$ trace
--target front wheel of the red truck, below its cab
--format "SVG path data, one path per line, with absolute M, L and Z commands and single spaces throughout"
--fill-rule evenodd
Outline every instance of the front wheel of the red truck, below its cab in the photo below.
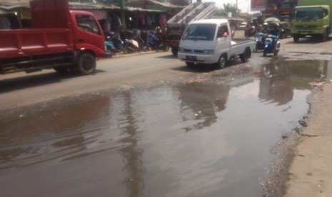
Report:
M 92 74 L 96 70 L 96 58 L 89 53 L 83 53 L 77 61 L 77 71 L 81 75 Z

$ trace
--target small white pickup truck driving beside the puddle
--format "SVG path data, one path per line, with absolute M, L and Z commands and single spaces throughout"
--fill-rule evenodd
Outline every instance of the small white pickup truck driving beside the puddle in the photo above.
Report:
M 193 21 L 181 36 L 178 59 L 186 61 L 187 66 L 216 64 L 221 69 L 230 59 L 248 61 L 251 51 L 256 48 L 256 41 L 232 40 L 230 30 L 226 19 Z

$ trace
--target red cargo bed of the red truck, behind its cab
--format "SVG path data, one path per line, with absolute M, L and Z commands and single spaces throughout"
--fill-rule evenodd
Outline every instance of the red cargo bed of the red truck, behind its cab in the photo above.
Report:
M 0 31 L 0 74 L 69 66 L 73 62 L 69 29 Z

